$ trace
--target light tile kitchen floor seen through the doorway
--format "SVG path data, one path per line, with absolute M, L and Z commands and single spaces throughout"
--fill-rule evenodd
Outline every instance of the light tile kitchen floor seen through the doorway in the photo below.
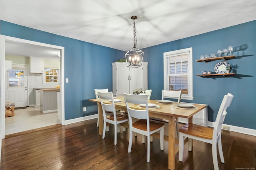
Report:
M 59 124 L 57 112 L 42 113 L 40 107 L 17 109 L 14 116 L 5 117 L 5 135 Z

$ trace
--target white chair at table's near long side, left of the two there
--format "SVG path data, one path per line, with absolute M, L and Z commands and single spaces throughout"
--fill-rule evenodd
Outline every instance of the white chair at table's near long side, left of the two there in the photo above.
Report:
M 117 133 L 118 133 L 118 129 L 120 129 L 119 124 L 128 121 L 128 116 L 123 114 L 123 113 L 119 113 L 118 115 L 116 114 L 116 107 L 115 107 L 115 104 L 114 104 L 114 98 L 113 98 L 113 93 L 112 92 L 105 92 L 105 93 L 98 92 L 98 95 L 99 95 L 99 98 L 100 98 L 100 104 L 102 106 L 103 117 L 104 117 L 103 118 L 104 124 L 103 124 L 102 139 L 105 138 L 106 123 L 110 123 L 110 124 L 114 125 L 114 145 L 116 145 L 116 143 L 117 143 Z M 112 101 L 111 104 L 107 103 L 110 100 Z M 106 115 L 106 111 L 112 112 L 112 114 Z

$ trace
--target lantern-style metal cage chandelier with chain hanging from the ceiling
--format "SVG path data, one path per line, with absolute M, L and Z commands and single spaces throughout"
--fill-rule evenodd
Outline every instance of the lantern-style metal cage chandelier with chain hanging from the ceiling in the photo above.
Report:
M 131 18 L 133 20 L 133 48 L 126 52 L 125 59 L 128 67 L 140 67 L 142 65 L 144 51 L 137 49 L 136 27 L 134 21 L 137 17 L 132 16 Z

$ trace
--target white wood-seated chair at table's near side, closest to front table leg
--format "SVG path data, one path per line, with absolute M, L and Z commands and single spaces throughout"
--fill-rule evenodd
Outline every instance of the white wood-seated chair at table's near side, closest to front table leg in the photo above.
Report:
M 129 117 L 130 137 L 128 153 L 132 150 L 133 132 L 147 136 L 147 162 L 150 162 L 150 135 L 160 131 L 160 149 L 164 150 L 164 123 L 150 121 L 148 115 L 148 96 L 146 94 L 134 95 L 124 93 L 124 101 Z M 146 107 L 144 110 L 141 110 L 132 108 L 129 104 L 145 104 Z

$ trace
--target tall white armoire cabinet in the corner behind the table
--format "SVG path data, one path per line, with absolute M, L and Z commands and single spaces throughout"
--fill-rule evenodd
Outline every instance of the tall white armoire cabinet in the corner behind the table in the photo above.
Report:
M 127 67 L 126 63 L 112 63 L 113 95 L 133 93 L 134 88 L 148 90 L 148 63 L 138 68 Z

